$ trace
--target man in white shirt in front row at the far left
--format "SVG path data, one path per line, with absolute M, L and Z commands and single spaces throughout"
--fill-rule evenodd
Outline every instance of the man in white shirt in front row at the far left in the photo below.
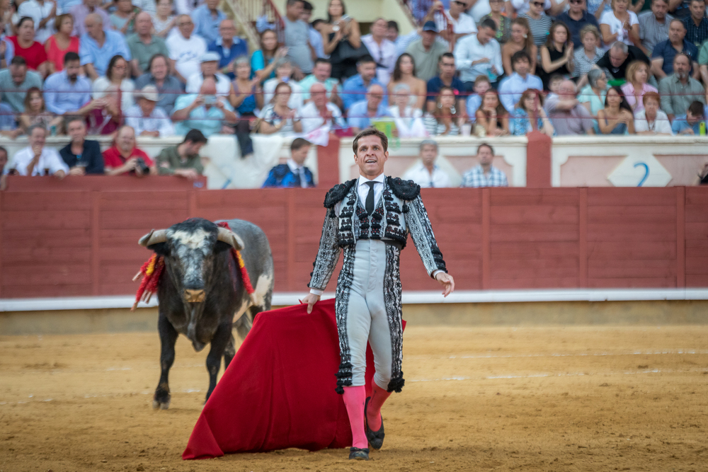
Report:
M 56 149 L 45 148 L 47 130 L 42 125 L 28 129 L 30 145 L 17 151 L 13 168 L 19 175 L 54 175 L 61 180 L 69 173 L 69 166 Z

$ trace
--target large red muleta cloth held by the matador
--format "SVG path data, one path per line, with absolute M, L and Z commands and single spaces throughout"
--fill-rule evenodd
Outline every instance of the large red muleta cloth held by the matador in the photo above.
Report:
M 404 321 L 404 327 L 405 325 Z M 367 347 L 366 388 L 374 375 Z M 297 447 L 350 447 L 336 388 L 339 339 L 334 300 L 264 311 L 204 405 L 182 459 Z

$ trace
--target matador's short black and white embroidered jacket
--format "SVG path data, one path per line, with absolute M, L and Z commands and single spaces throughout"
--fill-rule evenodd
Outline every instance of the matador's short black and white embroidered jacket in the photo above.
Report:
M 369 216 L 359 201 L 356 182 L 353 179 L 335 185 L 324 198 L 327 212 L 308 287 L 324 290 L 341 249 L 354 246 L 359 239 L 380 239 L 404 248 L 411 234 L 428 275 L 432 277 L 436 270 L 447 272 L 421 199 L 420 185 L 387 177 L 381 198 Z

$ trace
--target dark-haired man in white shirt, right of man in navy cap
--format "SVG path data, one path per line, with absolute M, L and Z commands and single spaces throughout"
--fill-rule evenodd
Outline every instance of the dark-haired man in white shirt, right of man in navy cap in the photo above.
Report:
M 501 63 L 501 47 L 494 39 L 496 23 L 486 18 L 479 24 L 476 35 L 465 36 L 455 46 L 455 64 L 459 79 L 467 91 L 472 91 L 474 79 L 481 74 L 489 76 L 491 82 L 504 71 Z

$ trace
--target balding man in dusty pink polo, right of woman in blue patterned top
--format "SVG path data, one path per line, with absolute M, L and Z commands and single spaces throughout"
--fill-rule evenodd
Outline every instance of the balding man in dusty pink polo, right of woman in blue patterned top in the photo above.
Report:
M 556 136 L 569 134 L 595 134 L 593 115 L 576 98 L 573 81 L 562 81 L 557 96 L 549 96 L 545 110 L 556 129 Z

